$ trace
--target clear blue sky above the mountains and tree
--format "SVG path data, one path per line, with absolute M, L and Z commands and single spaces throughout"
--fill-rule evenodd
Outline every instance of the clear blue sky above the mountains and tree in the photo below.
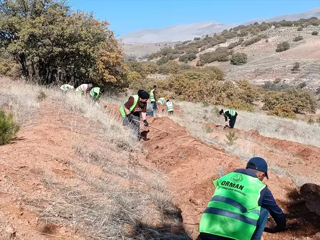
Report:
M 116 35 L 201 21 L 241 23 L 319 7 L 320 0 L 69 0 L 74 10 L 93 11 Z

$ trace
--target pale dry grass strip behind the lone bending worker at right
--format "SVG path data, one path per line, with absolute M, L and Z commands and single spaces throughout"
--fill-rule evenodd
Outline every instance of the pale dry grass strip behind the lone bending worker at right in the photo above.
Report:
M 215 114 L 215 106 L 203 108 L 200 103 L 176 102 L 183 109 L 184 116 L 194 122 L 224 124 L 224 118 Z M 235 127 L 243 130 L 256 130 L 266 137 L 298 142 L 320 147 L 320 126 L 310 125 L 302 120 L 290 120 L 260 113 L 239 113 Z

